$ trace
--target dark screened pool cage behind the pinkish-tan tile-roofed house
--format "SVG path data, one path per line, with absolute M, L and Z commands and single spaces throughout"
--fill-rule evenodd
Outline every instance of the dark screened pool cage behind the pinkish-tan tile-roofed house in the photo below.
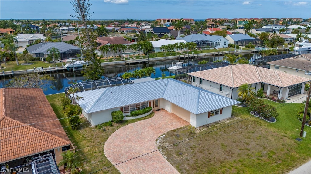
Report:
M 215 63 L 205 63 L 201 65 L 191 65 L 187 67 L 182 67 L 176 70 L 175 79 L 191 84 L 191 76 L 188 76 L 187 73 L 203 71 L 203 70 L 219 68 L 219 67 L 226 67 L 229 65 L 230 63 L 227 63 L 227 62 L 215 62 Z

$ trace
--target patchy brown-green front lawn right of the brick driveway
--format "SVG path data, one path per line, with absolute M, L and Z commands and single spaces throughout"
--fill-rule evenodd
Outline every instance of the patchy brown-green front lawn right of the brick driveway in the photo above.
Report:
M 165 133 L 158 148 L 206 133 L 164 148 L 162 154 L 180 173 L 288 173 L 310 160 L 311 128 L 305 126 L 307 137 L 296 141 L 300 104 L 263 100 L 277 107 L 276 123 L 254 117 L 243 120 L 251 115 L 234 106 L 232 118 L 202 127 L 196 134 L 187 127 Z

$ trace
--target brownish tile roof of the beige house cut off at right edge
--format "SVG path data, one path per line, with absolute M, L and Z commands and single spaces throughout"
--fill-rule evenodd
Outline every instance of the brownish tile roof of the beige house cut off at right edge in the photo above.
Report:
M 267 64 L 311 72 L 311 54 L 303 54 L 292 58 L 267 62 Z

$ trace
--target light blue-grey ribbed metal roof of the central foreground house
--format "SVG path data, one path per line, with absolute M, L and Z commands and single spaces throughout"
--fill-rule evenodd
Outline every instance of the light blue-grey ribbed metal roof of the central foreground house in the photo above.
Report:
M 71 94 L 72 95 L 72 94 Z M 183 83 L 161 79 L 75 93 L 86 113 L 164 98 L 194 114 L 238 104 L 238 101 Z

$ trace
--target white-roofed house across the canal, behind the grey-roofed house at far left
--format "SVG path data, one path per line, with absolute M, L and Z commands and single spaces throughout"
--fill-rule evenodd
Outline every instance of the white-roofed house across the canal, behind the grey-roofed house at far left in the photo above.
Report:
M 41 39 L 42 42 L 46 39 L 43 34 L 18 34 L 14 38 L 17 39 L 17 43 L 15 44 L 21 47 L 33 44 L 38 39 Z

